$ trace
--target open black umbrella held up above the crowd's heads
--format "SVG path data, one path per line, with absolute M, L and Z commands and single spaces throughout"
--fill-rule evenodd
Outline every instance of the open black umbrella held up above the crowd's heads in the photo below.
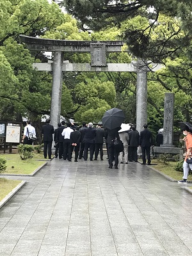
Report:
M 118 108 L 111 108 L 104 113 L 102 116 L 102 126 L 113 130 L 120 127 L 125 120 L 124 112 Z

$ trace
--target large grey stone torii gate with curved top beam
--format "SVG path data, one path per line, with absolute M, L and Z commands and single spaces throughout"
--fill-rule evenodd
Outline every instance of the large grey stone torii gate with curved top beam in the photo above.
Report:
M 106 52 L 122 52 L 123 41 L 75 41 L 52 40 L 20 35 L 28 49 L 53 52 L 54 59 L 48 63 L 33 63 L 40 71 L 52 71 L 51 124 L 54 128 L 60 122 L 63 72 L 136 72 L 136 125 L 140 132 L 147 123 L 147 72 L 162 66 L 148 65 L 142 61 L 132 63 L 106 63 Z M 91 63 L 68 63 L 63 61 L 63 52 L 90 52 Z

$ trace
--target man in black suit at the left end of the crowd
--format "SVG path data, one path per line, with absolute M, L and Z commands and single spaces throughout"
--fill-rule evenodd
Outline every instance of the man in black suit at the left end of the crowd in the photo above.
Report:
M 51 146 L 52 146 L 52 134 L 54 134 L 54 127 L 50 124 L 51 120 L 47 118 L 46 124 L 42 127 L 42 134 L 44 134 L 44 158 L 47 158 L 47 148 L 48 157 L 51 159 Z

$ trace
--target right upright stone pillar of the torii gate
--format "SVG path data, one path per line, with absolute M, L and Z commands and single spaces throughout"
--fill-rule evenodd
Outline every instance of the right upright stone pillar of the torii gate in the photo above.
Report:
M 138 132 L 141 132 L 143 125 L 147 124 L 147 65 L 142 60 L 138 60 L 136 64 L 136 125 Z

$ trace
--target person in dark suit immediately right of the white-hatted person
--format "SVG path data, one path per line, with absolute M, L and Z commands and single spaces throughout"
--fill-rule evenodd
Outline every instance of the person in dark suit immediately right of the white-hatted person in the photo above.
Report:
M 138 147 L 140 143 L 140 133 L 136 131 L 136 127 L 132 125 L 132 131 L 129 132 L 129 154 L 130 162 L 138 161 Z

